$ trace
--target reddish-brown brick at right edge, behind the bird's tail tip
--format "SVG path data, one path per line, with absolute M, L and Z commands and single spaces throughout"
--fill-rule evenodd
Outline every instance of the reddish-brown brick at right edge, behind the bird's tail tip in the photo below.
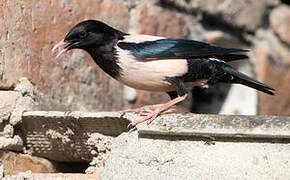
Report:
M 261 115 L 290 115 L 290 63 L 280 63 L 271 59 L 263 47 L 256 48 L 257 61 L 255 71 L 257 79 L 272 86 L 275 96 L 259 92 L 258 111 Z M 283 59 L 283 57 L 280 57 Z

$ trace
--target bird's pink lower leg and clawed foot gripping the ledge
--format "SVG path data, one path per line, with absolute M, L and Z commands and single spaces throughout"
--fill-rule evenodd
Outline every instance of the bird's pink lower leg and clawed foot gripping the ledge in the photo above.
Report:
M 173 111 L 172 108 L 177 103 L 183 101 L 187 97 L 187 94 L 184 96 L 177 97 L 175 99 L 172 99 L 171 101 L 165 103 L 165 104 L 155 104 L 155 105 L 149 105 L 149 106 L 143 106 L 141 108 L 136 109 L 127 109 L 124 111 L 121 111 L 120 113 L 124 114 L 126 112 L 135 112 L 140 115 L 145 115 L 143 119 L 136 120 L 129 124 L 129 126 L 135 126 L 139 123 L 142 123 L 144 121 L 147 121 L 147 124 L 150 124 L 156 117 L 160 114 L 170 113 Z

